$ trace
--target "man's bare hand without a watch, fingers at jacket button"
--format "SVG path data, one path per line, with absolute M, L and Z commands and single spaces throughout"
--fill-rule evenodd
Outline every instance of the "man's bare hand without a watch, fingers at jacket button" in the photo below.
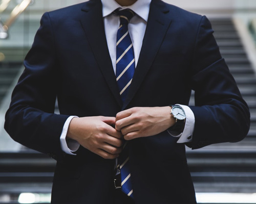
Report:
M 73 118 L 67 138 L 104 159 L 115 159 L 123 145 L 121 132 L 115 130 L 115 120 L 115 117 L 104 116 Z

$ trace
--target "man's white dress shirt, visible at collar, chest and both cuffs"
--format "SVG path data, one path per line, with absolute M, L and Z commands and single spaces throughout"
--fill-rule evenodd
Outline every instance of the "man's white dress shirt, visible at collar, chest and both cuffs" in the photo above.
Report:
M 109 53 L 113 64 L 114 72 L 116 73 L 116 38 L 117 30 L 120 24 L 119 16 L 115 15 L 113 11 L 121 6 L 117 4 L 115 0 L 101 0 L 102 2 L 102 16 L 104 20 L 104 29 L 106 35 L 106 41 L 108 43 Z M 140 50 L 142 46 L 143 37 L 146 30 L 146 24 L 148 19 L 148 13 L 150 12 L 151 0 L 138 0 L 132 6 L 121 7 L 130 8 L 135 12 L 135 16 L 130 20 L 128 24 L 128 30 L 133 42 L 134 55 L 135 55 L 135 66 L 137 65 Z M 195 116 L 188 106 L 180 105 L 186 114 L 186 123 L 183 133 L 178 136 L 178 143 L 190 142 L 195 126 Z M 70 121 L 76 116 L 70 116 L 63 126 L 63 130 L 60 136 L 60 144 L 63 151 L 67 154 L 75 155 L 73 152 L 79 148 L 78 142 L 74 140 L 66 140 L 68 127 Z

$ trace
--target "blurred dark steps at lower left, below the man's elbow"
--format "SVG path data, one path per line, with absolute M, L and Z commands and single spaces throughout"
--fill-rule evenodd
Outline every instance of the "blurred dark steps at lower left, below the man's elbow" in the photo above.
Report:
M 37 202 L 29 203 L 49 203 L 44 200 L 49 200 L 55 163 L 48 156 L 31 150 L 1 153 L 0 203 L 24 203 L 18 202 L 21 193 L 37 195 Z

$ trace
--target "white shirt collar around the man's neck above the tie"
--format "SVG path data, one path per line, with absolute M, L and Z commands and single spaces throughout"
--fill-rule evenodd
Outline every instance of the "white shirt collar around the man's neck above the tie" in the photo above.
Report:
M 101 0 L 101 2 L 103 17 L 110 15 L 117 8 L 121 7 L 115 0 Z M 151 0 L 137 0 L 133 5 L 121 8 L 132 9 L 137 15 L 147 22 L 148 13 L 150 13 L 150 3 Z

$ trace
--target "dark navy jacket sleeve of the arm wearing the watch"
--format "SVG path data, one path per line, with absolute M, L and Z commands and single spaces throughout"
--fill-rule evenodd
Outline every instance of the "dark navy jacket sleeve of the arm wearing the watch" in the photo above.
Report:
M 220 142 L 237 142 L 249 131 L 250 113 L 225 60 L 211 24 L 203 16 L 195 42 L 191 86 L 195 90 L 193 149 Z

